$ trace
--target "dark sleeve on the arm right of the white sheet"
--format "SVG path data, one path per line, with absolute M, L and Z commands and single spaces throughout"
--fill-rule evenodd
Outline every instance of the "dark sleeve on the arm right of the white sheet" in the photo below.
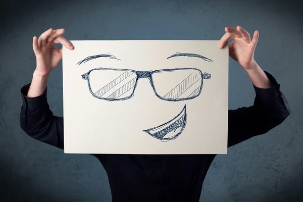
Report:
M 267 133 L 290 114 L 280 84 L 268 72 L 265 73 L 273 86 L 263 89 L 253 85 L 256 91 L 254 105 L 228 111 L 228 147 Z

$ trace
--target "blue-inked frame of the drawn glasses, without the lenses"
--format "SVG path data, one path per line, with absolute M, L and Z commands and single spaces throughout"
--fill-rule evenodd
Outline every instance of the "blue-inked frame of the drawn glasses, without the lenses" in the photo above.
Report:
M 95 70 L 114 70 L 114 71 L 132 71 L 136 74 L 136 81 L 135 81 L 135 85 L 134 85 L 134 89 L 132 90 L 132 93 L 128 96 L 128 97 L 123 97 L 123 98 L 107 98 L 107 97 L 98 97 L 96 96 L 92 90 L 91 90 L 91 87 L 90 87 L 90 83 L 89 83 L 89 74 L 92 72 L 92 71 L 95 71 Z M 155 85 L 154 85 L 154 81 L 153 81 L 153 77 L 152 75 L 154 73 L 159 73 L 159 72 L 170 72 L 170 71 L 176 71 L 176 70 L 197 70 L 199 73 L 200 73 L 200 76 L 201 76 L 201 84 L 200 84 L 200 89 L 199 89 L 199 92 L 192 96 L 192 97 L 186 97 L 186 98 L 180 98 L 180 99 L 166 99 L 166 98 L 163 98 L 161 97 L 158 93 L 157 93 L 157 90 L 155 88 Z M 87 80 L 87 85 L 88 85 L 88 89 L 89 89 L 89 92 L 92 94 L 92 96 L 94 96 L 95 98 L 98 98 L 98 99 L 103 99 L 103 100 L 107 100 L 107 101 L 121 101 L 121 100 L 126 100 L 126 99 L 130 99 L 131 97 L 133 97 L 134 95 L 134 92 L 135 92 L 135 89 L 137 87 L 137 83 L 138 83 L 138 80 L 141 79 L 141 78 L 148 78 L 149 79 L 149 83 L 151 85 L 151 87 L 153 87 L 153 90 L 154 90 L 154 93 L 155 95 L 162 99 L 162 100 L 165 100 L 165 101 L 169 101 L 169 102 L 179 102 L 179 101 L 182 101 L 182 100 L 190 100 L 190 99 L 193 99 L 197 96 L 200 95 L 201 93 L 201 90 L 203 88 L 203 79 L 209 79 L 211 78 L 211 74 L 209 73 L 206 73 L 204 72 L 204 74 L 202 73 L 201 70 L 197 69 L 197 68 L 175 68 L 175 69 L 160 69 L 160 70 L 150 70 L 150 71 L 136 71 L 136 70 L 132 70 L 132 69 L 113 69 L 113 68 L 103 68 L 103 67 L 98 67 L 98 68 L 94 68 L 94 69 L 91 69 L 89 70 L 88 72 L 84 73 L 81 75 L 81 78 L 84 79 L 84 80 Z

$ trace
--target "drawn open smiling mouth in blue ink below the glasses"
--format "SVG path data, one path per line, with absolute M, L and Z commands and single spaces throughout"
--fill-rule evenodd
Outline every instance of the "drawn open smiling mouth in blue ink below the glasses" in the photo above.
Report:
M 160 139 L 163 142 L 177 138 L 186 126 L 186 105 L 184 105 L 182 111 L 170 121 L 143 132 L 148 133 L 152 137 Z

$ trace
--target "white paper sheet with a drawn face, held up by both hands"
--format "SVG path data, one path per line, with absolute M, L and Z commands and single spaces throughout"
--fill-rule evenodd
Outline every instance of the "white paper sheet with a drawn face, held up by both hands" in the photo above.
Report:
M 65 153 L 227 153 L 227 46 L 71 42 L 73 50 L 63 47 Z

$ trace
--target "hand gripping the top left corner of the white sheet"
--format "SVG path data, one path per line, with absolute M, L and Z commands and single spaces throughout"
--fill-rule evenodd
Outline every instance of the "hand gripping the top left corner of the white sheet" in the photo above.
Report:
M 62 48 L 55 47 L 55 43 L 61 43 L 68 49 L 74 49 L 74 46 L 66 38 L 61 36 L 64 29 L 48 29 L 42 33 L 39 39 L 33 37 L 33 50 L 36 56 L 37 67 L 34 74 L 38 76 L 48 76 L 49 73 L 61 62 Z

